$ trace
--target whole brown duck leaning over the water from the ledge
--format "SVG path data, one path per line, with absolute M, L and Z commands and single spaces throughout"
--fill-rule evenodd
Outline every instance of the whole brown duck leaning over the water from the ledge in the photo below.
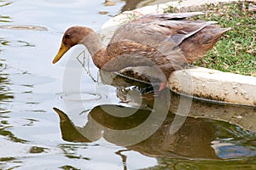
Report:
M 184 20 L 201 12 L 148 14 L 120 26 L 104 47 L 95 31 L 73 26 L 65 32 L 53 63 L 77 44 L 84 44 L 94 64 L 105 71 L 126 67 L 157 65 L 168 79 L 181 65 L 201 59 L 230 28 L 214 21 Z

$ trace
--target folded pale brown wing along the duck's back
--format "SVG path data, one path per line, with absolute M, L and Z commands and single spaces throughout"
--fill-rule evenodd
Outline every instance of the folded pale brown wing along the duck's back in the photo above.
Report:
M 174 42 L 174 47 L 177 47 L 185 38 L 216 23 L 214 21 L 181 20 L 196 14 L 201 13 L 145 15 L 120 26 L 115 31 L 110 43 L 131 41 L 157 47 L 161 42 Z

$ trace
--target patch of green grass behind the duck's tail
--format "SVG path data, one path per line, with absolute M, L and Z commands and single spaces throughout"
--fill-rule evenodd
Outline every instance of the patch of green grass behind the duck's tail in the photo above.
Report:
M 247 2 L 207 4 L 207 13 L 193 18 L 232 28 L 194 65 L 256 77 L 256 14 L 248 6 Z

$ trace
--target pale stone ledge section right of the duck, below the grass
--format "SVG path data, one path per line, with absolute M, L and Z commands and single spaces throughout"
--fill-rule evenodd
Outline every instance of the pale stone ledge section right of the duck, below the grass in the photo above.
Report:
M 169 88 L 177 93 L 237 105 L 256 105 L 256 77 L 197 67 L 174 71 Z

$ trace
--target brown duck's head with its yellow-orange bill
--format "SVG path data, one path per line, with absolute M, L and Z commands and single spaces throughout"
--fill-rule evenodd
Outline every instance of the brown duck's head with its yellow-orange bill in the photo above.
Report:
M 72 26 L 68 28 L 62 37 L 61 48 L 52 63 L 55 64 L 69 48 L 81 43 L 84 37 L 87 37 L 91 32 L 93 31 L 90 28 L 84 26 Z

